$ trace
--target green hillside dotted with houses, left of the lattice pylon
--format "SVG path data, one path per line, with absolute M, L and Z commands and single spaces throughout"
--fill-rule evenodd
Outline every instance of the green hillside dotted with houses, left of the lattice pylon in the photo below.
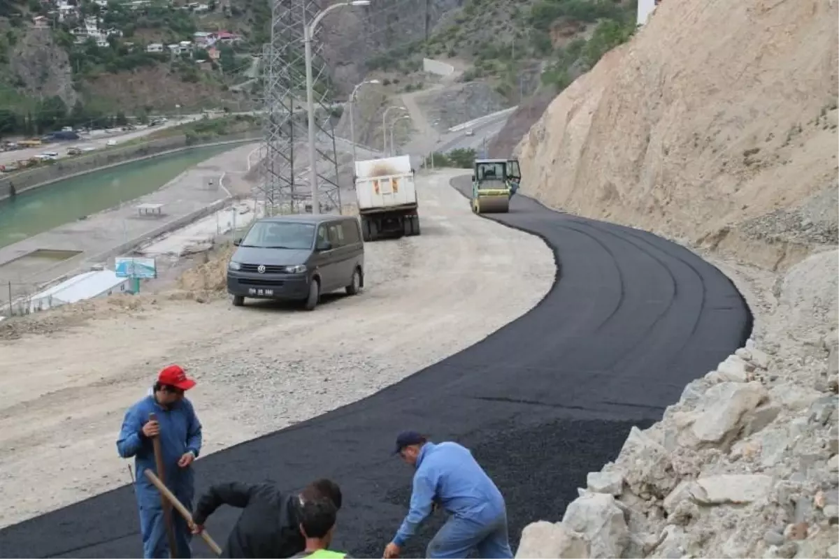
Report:
M 175 113 L 177 106 L 247 110 L 257 91 L 251 54 L 267 38 L 266 13 L 263 0 L 192 8 L 170 0 L 3 0 L 0 133 L 86 125 L 117 113 Z

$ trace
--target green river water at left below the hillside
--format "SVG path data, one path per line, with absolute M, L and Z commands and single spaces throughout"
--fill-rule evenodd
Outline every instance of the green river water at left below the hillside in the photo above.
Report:
M 0 200 L 0 247 L 140 198 L 186 169 L 234 147 L 193 148 L 124 163 Z

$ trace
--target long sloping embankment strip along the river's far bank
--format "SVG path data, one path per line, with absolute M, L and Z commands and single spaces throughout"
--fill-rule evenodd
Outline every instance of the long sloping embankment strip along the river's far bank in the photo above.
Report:
M 213 138 L 211 142 L 190 143 L 185 135 L 164 137 L 151 142 L 143 142 L 124 148 L 112 148 L 100 153 L 91 153 L 79 158 L 60 159 L 57 163 L 47 164 L 30 171 L 12 173 L 0 178 L 0 200 L 11 194 L 12 184 L 15 192 L 22 194 L 27 190 L 40 188 L 60 180 L 72 179 L 86 173 L 105 168 L 116 167 L 125 163 L 143 161 L 169 153 L 182 152 L 192 148 L 221 146 L 227 143 L 253 142 L 261 138 L 259 132 L 242 132 Z

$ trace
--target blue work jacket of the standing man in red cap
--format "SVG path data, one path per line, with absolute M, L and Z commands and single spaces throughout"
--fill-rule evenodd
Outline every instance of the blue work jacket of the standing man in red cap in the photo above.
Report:
M 143 425 L 149 422 L 149 413 L 153 411 L 160 424 L 160 450 L 163 454 L 166 486 L 188 505 L 195 494 L 192 466 L 180 468 L 178 460 L 188 452 L 198 458 L 201 452 L 201 422 L 195 415 L 192 402 L 184 398 L 171 408 L 166 408 L 160 406 L 154 396 L 146 396 L 138 401 L 125 412 L 117 439 L 117 452 L 122 458 L 134 457 L 137 471 L 135 484 L 140 504 L 159 504 L 158 490 L 143 474 L 147 468 L 158 474 L 152 440 L 143 435 L 142 431 Z

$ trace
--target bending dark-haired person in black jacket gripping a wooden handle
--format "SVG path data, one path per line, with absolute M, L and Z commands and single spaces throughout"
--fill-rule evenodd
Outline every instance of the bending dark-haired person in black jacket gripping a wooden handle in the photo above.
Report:
M 305 550 L 300 532 L 300 507 L 314 499 L 330 499 L 341 508 L 341 488 L 330 479 L 318 479 L 300 492 L 286 493 L 274 484 L 213 485 L 198 500 L 192 515 L 192 533 L 200 534 L 204 523 L 219 506 L 243 509 L 221 552 L 221 559 L 287 559 Z

